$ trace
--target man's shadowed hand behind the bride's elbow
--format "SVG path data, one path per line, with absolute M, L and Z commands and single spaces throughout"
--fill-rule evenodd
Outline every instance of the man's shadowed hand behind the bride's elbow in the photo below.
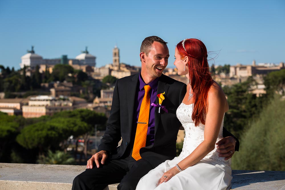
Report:
M 235 153 L 235 138 L 228 136 L 219 140 L 216 143 L 217 152 L 219 152 L 220 157 L 225 157 L 225 160 L 230 159 Z

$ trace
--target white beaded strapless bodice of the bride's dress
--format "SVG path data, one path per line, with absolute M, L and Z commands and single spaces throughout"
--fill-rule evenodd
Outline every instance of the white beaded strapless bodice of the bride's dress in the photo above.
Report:
M 204 140 L 205 125 L 200 124 L 199 126 L 195 126 L 195 123 L 192 120 L 192 110 L 193 104 L 186 105 L 181 103 L 176 111 L 177 118 L 180 120 L 185 130 L 182 152 L 176 158 L 186 158 Z M 223 122 L 224 119 L 222 121 L 216 142 L 223 138 Z M 224 157 L 219 157 L 218 154 L 219 153 L 217 152 L 217 148 L 215 146 L 215 149 L 209 152 L 209 154 L 207 154 L 203 159 L 211 159 L 226 166 L 230 166 L 230 160 L 225 160 Z

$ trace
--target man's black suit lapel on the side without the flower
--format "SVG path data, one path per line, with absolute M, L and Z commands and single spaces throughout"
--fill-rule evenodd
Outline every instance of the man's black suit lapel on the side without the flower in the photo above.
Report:
M 134 115 L 134 103 L 137 84 L 139 81 L 139 73 L 131 78 L 131 82 L 128 84 L 127 88 L 127 104 L 128 104 L 128 113 L 129 113 L 129 134 L 131 138 L 132 124 L 133 124 L 133 115 Z

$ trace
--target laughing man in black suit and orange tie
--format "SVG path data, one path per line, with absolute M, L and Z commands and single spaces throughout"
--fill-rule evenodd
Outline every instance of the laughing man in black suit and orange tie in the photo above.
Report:
M 181 126 L 176 109 L 186 85 L 162 74 L 169 58 L 166 43 L 157 36 L 145 38 L 141 73 L 117 80 L 98 152 L 88 160 L 86 171 L 74 178 L 72 189 L 104 189 L 112 183 L 120 183 L 118 189 L 135 189 L 148 171 L 176 156 Z M 165 99 L 159 109 L 160 93 Z M 229 135 L 224 129 L 224 136 Z M 231 158 L 239 148 L 238 140 L 236 144 L 233 137 L 223 138 L 218 148 L 220 156 Z

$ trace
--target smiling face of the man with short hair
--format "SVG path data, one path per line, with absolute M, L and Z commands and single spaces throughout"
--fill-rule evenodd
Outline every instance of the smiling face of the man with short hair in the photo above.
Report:
M 145 66 L 148 75 L 160 77 L 168 64 L 168 58 L 169 50 L 167 45 L 153 42 L 148 56 L 145 57 L 145 64 L 142 66 Z

